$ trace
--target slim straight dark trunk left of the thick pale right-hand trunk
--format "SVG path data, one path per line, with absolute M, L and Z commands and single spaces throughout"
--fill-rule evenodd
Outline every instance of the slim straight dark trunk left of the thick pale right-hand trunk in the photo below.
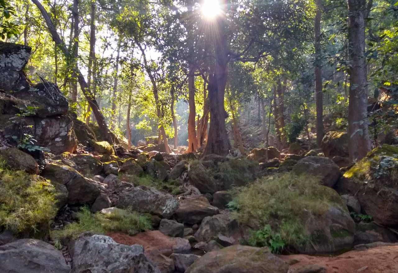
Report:
M 315 16 L 315 96 L 316 96 L 316 144 L 321 146 L 324 137 L 323 92 L 321 60 L 321 0 L 316 0 Z

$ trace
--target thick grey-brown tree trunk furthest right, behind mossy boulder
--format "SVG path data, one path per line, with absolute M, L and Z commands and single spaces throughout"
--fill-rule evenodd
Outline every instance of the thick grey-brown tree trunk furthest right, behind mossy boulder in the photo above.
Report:
M 359 160 L 371 150 L 367 118 L 367 71 L 365 57 L 366 1 L 348 0 L 349 79 L 348 134 L 349 157 Z

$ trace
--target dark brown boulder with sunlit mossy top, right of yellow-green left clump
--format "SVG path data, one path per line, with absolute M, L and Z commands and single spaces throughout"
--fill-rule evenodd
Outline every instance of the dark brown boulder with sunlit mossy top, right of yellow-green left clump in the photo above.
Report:
M 73 168 L 53 162 L 47 164 L 43 176 L 52 182 L 66 186 L 68 204 L 92 204 L 100 195 L 100 190 Z

